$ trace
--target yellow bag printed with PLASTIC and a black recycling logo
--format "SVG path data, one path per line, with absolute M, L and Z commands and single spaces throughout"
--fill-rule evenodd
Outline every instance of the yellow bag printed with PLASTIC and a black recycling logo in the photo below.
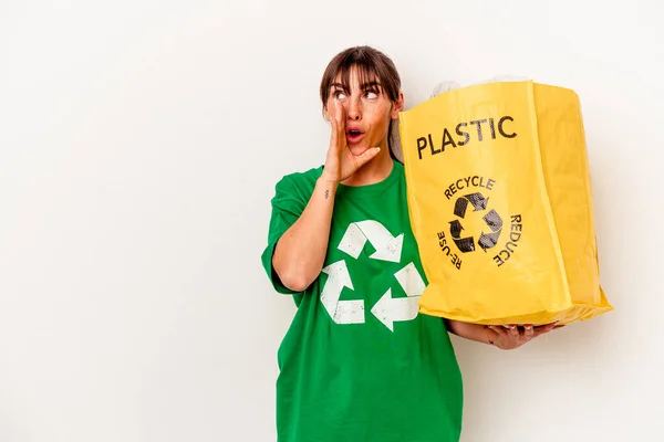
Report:
M 613 309 L 599 283 L 573 91 L 468 86 L 400 115 L 408 208 L 428 286 L 421 313 L 569 324 Z

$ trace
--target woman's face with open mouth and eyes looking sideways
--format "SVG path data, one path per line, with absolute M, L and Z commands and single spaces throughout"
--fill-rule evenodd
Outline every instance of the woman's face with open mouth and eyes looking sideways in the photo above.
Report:
M 325 116 L 330 120 L 341 112 L 345 124 L 349 148 L 353 155 L 362 155 L 366 149 L 380 146 L 387 152 L 390 120 L 398 118 L 403 108 L 403 94 L 396 103 L 383 92 L 380 81 L 361 84 L 361 75 L 351 69 L 350 90 L 345 90 L 338 77 L 330 86 L 330 97 L 325 104 Z M 334 102 L 339 102 L 335 107 Z M 335 110 L 338 109 L 338 110 Z

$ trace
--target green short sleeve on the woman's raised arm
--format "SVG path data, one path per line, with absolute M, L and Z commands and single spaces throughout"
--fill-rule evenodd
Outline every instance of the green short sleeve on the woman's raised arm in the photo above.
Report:
M 274 188 L 274 197 L 271 201 L 272 214 L 268 230 L 268 245 L 261 255 L 261 261 L 272 286 L 277 292 L 282 294 L 295 294 L 298 292 L 283 285 L 272 266 L 272 256 L 274 255 L 277 242 L 298 221 L 307 207 L 309 198 L 302 194 L 302 191 L 295 186 L 294 179 L 290 176 L 282 178 Z

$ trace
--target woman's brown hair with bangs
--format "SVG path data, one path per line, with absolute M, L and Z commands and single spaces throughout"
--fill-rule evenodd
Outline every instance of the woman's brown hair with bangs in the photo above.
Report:
M 396 101 L 398 101 L 401 92 L 401 77 L 392 60 L 374 48 L 354 46 L 336 54 L 325 69 L 320 90 L 321 102 L 323 103 L 323 112 L 325 109 L 328 98 L 330 97 L 330 87 L 336 77 L 340 78 L 341 84 L 346 91 L 351 88 L 351 70 L 353 67 L 357 69 L 360 84 L 377 81 L 380 83 L 381 92 L 386 94 L 392 103 L 396 103 Z M 393 123 L 394 122 L 391 119 L 390 127 L 387 129 L 387 143 L 390 146 L 390 156 L 393 159 L 398 160 L 392 151 L 390 141 L 392 138 Z

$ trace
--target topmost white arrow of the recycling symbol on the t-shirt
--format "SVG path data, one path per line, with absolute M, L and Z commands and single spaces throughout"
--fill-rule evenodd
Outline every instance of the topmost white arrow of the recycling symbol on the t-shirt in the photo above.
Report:
M 404 234 L 393 236 L 383 224 L 373 220 L 351 223 L 341 239 L 339 250 L 356 260 L 366 241 L 376 250 L 369 257 L 395 263 L 401 261 Z

